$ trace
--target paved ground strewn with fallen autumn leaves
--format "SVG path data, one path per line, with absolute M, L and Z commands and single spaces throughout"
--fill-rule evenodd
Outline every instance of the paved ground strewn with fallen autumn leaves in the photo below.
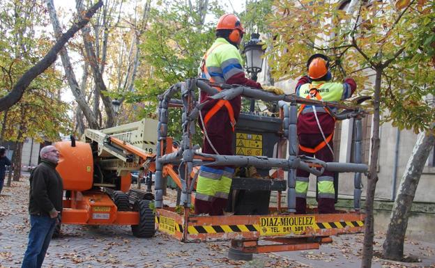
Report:
M 25 180 L 25 181 L 24 181 Z M 20 267 L 29 221 L 28 182 L 14 182 L 0 196 L 0 268 Z M 342 235 L 319 250 L 254 255 L 250 262 L 227 258 L 229 242 L 184 244 L 157 232 L 151 239 L 132 236 L 129 226 L 62 226 L 43 267 L 360 267 L 363 235 Z M 381 248 L 376 237 L 375 250 Z M 386 262 L 372 267 L 435 267 L 435 245 L 407 242 L 407 253 L 421 262 Z

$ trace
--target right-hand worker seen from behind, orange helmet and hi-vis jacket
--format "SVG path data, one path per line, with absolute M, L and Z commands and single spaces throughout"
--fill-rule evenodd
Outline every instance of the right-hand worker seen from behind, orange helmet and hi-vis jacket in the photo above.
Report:
M 296 94 L 311 100 L 337 102 L 351 97 L 356 82 L 351 78 L 343 83 L 331 82 L 330 60 L 323 54 L 314 54 L 307 61 L 308 76 L 301 77 L 296 85 Z M 334 160 L 333 135 L 334 109 L 312 105 L 300 105 L 298 111 L 298 155 L 316 157 L 330 162 Z M 296 214 L 305 214 L 307 209 L 308 178 L 310 173 L 298 169 L 296 172 Z M 319 213 L 335 213 L 334 173 L 323 172 L 317 177 Z

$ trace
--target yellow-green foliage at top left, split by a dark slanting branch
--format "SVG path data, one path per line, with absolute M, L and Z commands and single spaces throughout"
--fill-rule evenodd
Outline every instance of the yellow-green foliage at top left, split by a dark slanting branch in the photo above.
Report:
M 4 2 L 4 3 L 3 3 Z M 3 1 L 0 6 L 0 97 L 6 95 L 24 70 L 29 69 L 50 49 L 53 40 L 37 33 L 48 22 L 40 1 Z M 7 113 L 0 139 L 24 141 L 33 137 L 42 141 L 59 139 L 59 132 L 72 129 L 68 104 L 59 100 L 63 86 L 61 72 L 48 68 L 34 79 L 22 99 Z M 6 113 L 0 113 L 0 118 Z

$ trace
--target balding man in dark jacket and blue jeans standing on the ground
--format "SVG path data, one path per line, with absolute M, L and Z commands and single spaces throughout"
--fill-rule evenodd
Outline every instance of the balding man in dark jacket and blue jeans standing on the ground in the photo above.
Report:
M 56 171 L 59 151 L 49 145 L 40 150 L 41 163 L 30 175 L 31 229 L 22 268 L 42 267 L 58 215 L 62 211 L 63 182 Z

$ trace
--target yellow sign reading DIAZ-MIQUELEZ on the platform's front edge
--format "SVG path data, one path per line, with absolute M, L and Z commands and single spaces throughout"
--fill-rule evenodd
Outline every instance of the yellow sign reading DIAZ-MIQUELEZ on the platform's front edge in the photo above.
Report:
M 260 235 L 299 235 L 307 229 L 314 229 L 314 216 L 271 216 L 260 218 Z

